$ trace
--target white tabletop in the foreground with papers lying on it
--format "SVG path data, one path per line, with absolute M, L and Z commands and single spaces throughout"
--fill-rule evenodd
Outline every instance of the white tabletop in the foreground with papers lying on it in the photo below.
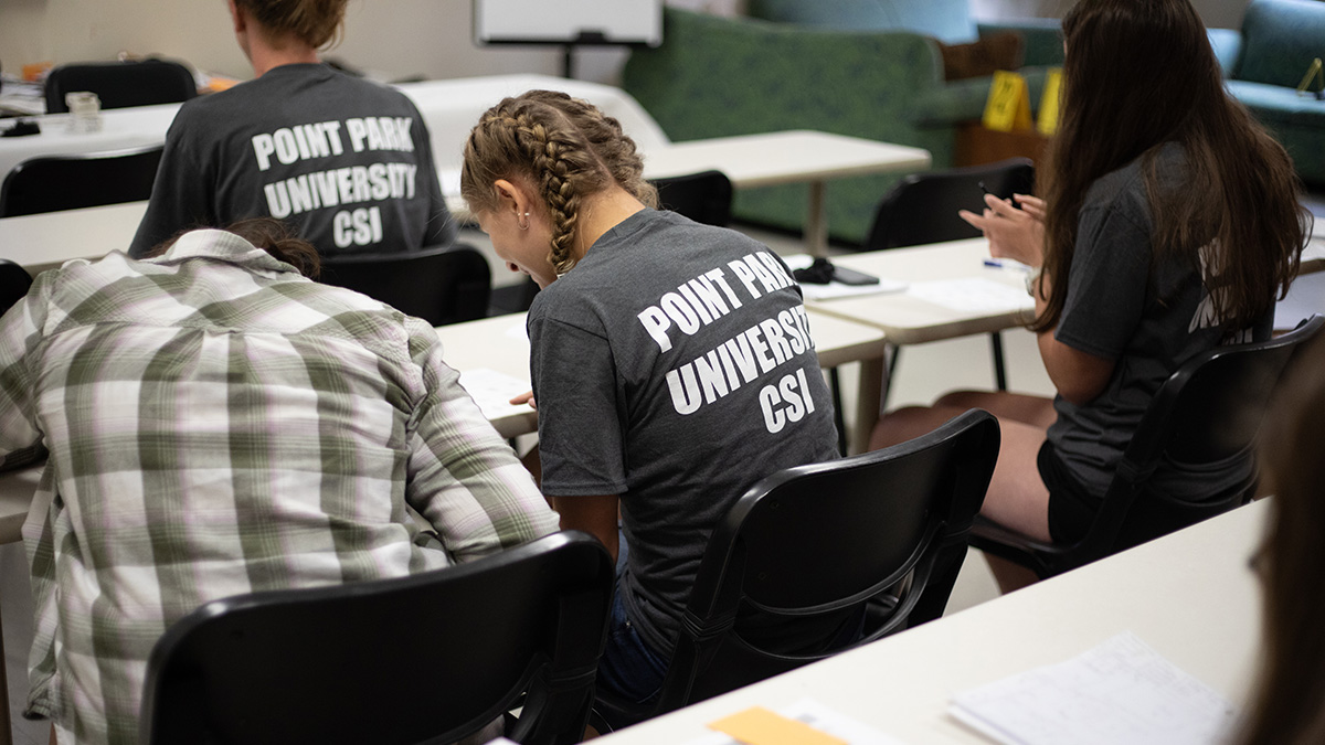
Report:
M 600 742 L 686 745 L 710 733 L 705 722 L 808 696 L 909 745 L 987 745 L 945 713 L 954 692 L 1065 661 L 1124 631 L 1240 707 L 1260 647 L 1260 593 L 1247 559 L 1265 508 L 1240 508 Z

